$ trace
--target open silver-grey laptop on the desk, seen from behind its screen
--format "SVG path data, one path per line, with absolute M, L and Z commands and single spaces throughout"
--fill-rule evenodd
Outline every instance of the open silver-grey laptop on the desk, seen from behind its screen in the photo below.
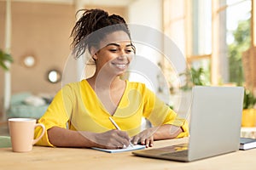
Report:
M 239 150 L 244 88 L 195 86 L 190 106 L 189 143 L 132 154 L 195 161 Z

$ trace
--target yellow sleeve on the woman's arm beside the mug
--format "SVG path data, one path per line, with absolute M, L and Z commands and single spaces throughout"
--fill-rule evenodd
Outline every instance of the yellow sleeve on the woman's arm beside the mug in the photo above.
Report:
M 56 95 L 47 111 L 44 113 L 38 122 L 44 124 L 45 133 L 42 139 L 40 139 L 37 145 L 53 146 L 48 139 L 47 130 L 51 127 L 63 127 L 67 128 L 67 122 L 71 116 L 73 107 L 73 94 L 69 86 L 62 88 Z M 42 128 L 37 127 L 35 129 L 35 138 L 42 133 Z

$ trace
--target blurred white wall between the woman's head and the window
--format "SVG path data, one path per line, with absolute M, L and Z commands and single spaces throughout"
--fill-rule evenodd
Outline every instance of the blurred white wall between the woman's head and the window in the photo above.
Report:
M 133 61 L 135 64 L 131 65 L 131 70 L 142 71 L 139 73 L 131 72 L 130 81 L 146 83 L 148 88 L 152 89 L 160 99 L 169 103 L 167 84 L 158 66 L 163 52 L 162 1 L 134 1 L 128 7 L 127 22 L 130 24 L 131 37 L 137 48 L 137 56 Z M 139 28 L 134 25 L 139 25 Z M 143 26 L 145 27 L 143 28 Z M 137 28 L 134 32 L 132 32 L 133 27 Z M 137 40 L 143 40 L 143 42 Z M 162 92 L 160 92 L 160 88 L 162 88 Z

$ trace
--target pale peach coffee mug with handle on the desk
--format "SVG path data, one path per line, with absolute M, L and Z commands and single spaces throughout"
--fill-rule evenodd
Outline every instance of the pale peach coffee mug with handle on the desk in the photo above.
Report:
M 15 152 L 27 152 L 32 150 L 32 145 L 36 144 L 45 133 L 45 127 L 37 123 L 33 118 L 9 118 L 9 134 L 12 148 Z M 36 127 L 42 127 L 42 133 L 37 139 L 34 139 Z

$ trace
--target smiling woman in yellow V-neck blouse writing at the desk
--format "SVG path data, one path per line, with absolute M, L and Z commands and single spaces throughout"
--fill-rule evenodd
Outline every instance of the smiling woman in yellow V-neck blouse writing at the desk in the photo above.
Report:
M 154 139 L 188 136 L 186 120 L 145 84 L 120 78 L 135 55 L 125 20 L 102 9 L 82 11 L 71 34 L 73 55 L 78 59 L 88 52 L 96 71 L 90 78 L 68 83 L 55 95 L 38 120 L 47 129 L 38 144 L 120 149 L 130 143 L 151 147 Z M 143 118 L 154 127 L 141 130 Z

